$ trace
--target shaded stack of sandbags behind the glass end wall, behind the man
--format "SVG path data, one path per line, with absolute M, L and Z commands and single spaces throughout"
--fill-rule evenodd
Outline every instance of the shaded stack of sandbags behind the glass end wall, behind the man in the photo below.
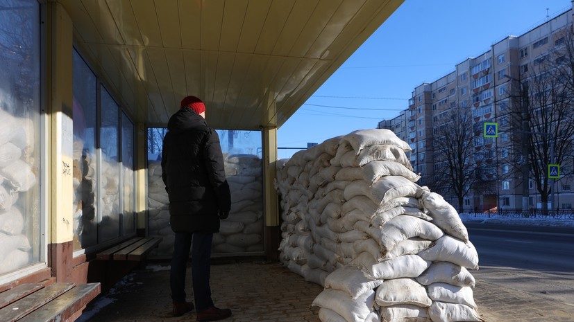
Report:
M 231 211 L 213 235 L 214 253 L 264 251 L 262 160 L 253 154 L 232 154 L 224 158 L 231 191 Z M 160 161 L 148 164 L 148 206 L 150 235 L 163 237 L 152 256 L 171 256 L 174 232 L 169 226 L 169 198 L 162 181 Z

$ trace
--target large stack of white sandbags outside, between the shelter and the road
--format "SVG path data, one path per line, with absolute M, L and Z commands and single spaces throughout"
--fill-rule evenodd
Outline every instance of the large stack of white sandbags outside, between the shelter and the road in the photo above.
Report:
M 476 250 L 454 208 L 416 184 L 407 143 L 366 129 L 324 144 L 278 163 L 276 182 L 280 259 L 325 287 L 321 321 L 480 321 Z

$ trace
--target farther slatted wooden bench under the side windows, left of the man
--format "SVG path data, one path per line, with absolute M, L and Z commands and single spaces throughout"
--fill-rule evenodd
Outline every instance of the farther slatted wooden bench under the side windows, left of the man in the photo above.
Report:
M 100 251 L 96 254 L 96 259 L 142 261 L 152 249 L 158 247 L 161 241 L 161 237 L 135 237 Z

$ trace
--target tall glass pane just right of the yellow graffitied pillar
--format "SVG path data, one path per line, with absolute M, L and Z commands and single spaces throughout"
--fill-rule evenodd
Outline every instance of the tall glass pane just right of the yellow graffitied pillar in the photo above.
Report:
M 98 241 L 96 75 L 74 49 L 74 251 Z

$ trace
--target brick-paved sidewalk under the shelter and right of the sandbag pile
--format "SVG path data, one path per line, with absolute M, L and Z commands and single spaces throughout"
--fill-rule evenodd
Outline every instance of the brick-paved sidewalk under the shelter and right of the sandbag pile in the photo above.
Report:
M 215 305 L 233 311 L 233 316 L 223 321 L 320 322 L 319 308 L 311 304 L 323 287 L 306 282 L 278 262 L 214 264 L 211 274 Z M 487 272 L 473 274 L 477 280 L 473 292 L 486 322 L 574 321 L 573 305 L 487 283 L 483 274 Z M 190 293 L 191 278 L 187 280 Z M 171 316 L 169 270 L 164 263 L 134 271 L 109 294 L 90 303 L 77 321 L 195 321 L 195 314 Z

